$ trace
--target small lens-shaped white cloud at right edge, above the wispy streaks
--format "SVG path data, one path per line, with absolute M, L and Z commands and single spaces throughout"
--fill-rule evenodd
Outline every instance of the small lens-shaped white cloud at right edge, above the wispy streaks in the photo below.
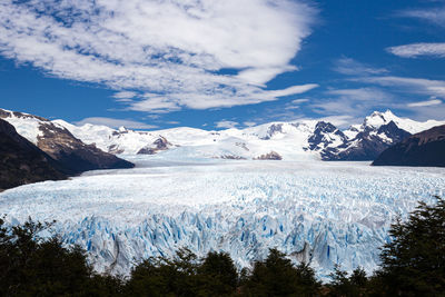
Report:
M 419 56 L 445 57 L 445 43 L 413 43 L 387 48 L 393 55 L 403 58 L 417 58 Z

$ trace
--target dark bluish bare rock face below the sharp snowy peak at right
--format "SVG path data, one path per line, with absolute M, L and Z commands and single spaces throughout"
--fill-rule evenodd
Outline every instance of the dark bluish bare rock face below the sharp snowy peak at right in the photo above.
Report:
M 366 126 L 356 137 L 337 148 L 324 151 L 325 160 L 374 160 L 382 151 L 398 142 L 411 133 L 398 128 L 394 121 L 378 129 Z

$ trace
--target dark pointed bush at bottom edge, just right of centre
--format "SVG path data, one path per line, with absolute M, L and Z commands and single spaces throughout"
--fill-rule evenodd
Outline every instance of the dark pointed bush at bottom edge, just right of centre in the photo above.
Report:
M 244 286 L 246 296 L 314 296 L 319 284 L 307 265 L 295 267 L 286 255 L 270 249 L 265 261 L 256 261 Z

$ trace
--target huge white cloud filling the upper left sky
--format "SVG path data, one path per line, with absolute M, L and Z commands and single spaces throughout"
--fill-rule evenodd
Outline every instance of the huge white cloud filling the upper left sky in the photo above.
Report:
M 0 52 L 59 78 L 155 95 L 116 98 L 132 110 L 230 107 L 298 93 L 264 87 L 295 70 L 315 14 L 289 0 L 3 0 Z

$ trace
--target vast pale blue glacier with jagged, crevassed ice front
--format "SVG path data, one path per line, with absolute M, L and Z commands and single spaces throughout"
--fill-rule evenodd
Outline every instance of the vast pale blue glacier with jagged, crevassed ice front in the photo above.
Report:
M 0 214 L 10 224 L 56 220 L 50 232 L 85 248 L 99 273 L 127 276 L 180 247 L 250 267 L 276 247 L 326 279 L 336 264 L 372 273 L 392 221 L 445 196 L 444 168 L 181 158 L 184 149 L 3 191 Z

